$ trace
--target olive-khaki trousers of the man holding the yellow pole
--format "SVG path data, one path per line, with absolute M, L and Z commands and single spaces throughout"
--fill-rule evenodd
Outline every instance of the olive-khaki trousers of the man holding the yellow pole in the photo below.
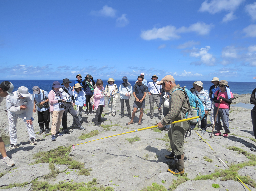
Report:
M 177 120 L 181 119 L 174 119 L 173 121 Z M 189 128 L 190 125 L 187 121 L 183 121 L 183 127 L 181 127 L 181 123 L 174 123 L 171 125 L 168 131 L 168 136 L 170 139 L 172 153 L 175 155 L 182 155 L 184 153 L 184 137 Z

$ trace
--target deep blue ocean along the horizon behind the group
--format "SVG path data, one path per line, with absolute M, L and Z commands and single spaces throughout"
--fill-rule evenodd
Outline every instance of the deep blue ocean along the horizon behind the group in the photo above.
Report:
M 71 81 L 74 82 L 75 80 L 76 79 Z M 49 92 L 50 90 L 52 90 L 52 82 L 54 80 L 0 80 L 0 83 L 3 81 L 12 82 L 14 85 L 13 91 L 16 91 L 20 86 L 26 86 L 27 88 L 29 88 L 29 92 L 33 93 L 33 90 L 32 90 L 33 86 L 39 86 L 39 88 Z M 57 80 L 57 81 L 62 83 L 62 80 Z M 150 81 L 151 80 L 147 80 L 147 82 L 150 82 Z M 133 86 L 136 80 L 129 80 L 128 82 L 130 82 Z M 103 83 L 105 88 L 106 85 L 108 84 L 107 80 L 103 80 Z M 118 88 L 121 85 L 121 83 L 123 83 L 123 80 L 115 80 L 115 84 L 118 86 Z M 192 83 L 193 81 L 176 81 L 176 84 L 180 84 L 180 86 L 186 86 L 187 89 L 190 89 L 193 87 Z M 203 87 L 205 90 L 209 90 L 211 85 L 213 85 L 211 82 L 203 81 Z M 228 85 L 231 92 L 234 94 L 251 94 L 252 90 L 256 88 L 256 82 L 228 82 Z M 73 86 L 73 83 L 70 83 L 70 86 Z

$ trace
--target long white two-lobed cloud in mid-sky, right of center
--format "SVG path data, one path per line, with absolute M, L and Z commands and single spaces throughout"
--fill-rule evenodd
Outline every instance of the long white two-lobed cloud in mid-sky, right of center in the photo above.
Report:
M 180 38 L 180 33 L 185 32 L 197 32 L 200 35 L 209 34 L 211 28 L 214 25 L 207 25 L 206 23 L 197 22 L 195 24 L 190 25 L 189 27 L 182 26 L 176 29 L 175 26 L 167 25 L 162 28 L 153 28 L 147 31 L 141 31 L 141 38 L 144 40 L 152 40 L 161 38 L 162 40 L 172 40 Z

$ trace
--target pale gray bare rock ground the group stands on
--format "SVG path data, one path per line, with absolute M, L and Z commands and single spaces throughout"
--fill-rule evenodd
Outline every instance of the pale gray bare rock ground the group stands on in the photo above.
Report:
M 244 95 L 245 96 L 240 95 L 240 97 L 235 100 L 240 99 L 238 102 L 245 103 L 248 99 L 248 95 Z M 131 98 L 130 106 L 132 106 L 133 100 L 134 99 Z M 29 144 L 29 137 L 25 124 L 19 119 L 17 123 L 19 147 L 15 150 L 8 150 L 8 148 L 6 148 L 7 155 L 15 161 L 16 165 L 14 167 L 8 167 L 0 161 L 0 172 L 7 172 L 0 178 L 1 185 L 3 186 L 14 183 L 13 181 L 17 181 L 19 183 L 31 182 L 35 178 L 39 178 L 39 181 L 44 181 L 44 175 L 50 173 L 48 163 L 29 165 L 30 163 L 35 162 L 33 154 L 38 153 L 39 151 L 49 151 L 60 145 L 68 147 L 70 145 L 80 144 L 107 136 L 130 132 L 136 129 L 154 126 L 160 121 L 157 118 L 157 109 L 155 109 L 154 118 L 150 119 L 148 96 L 146 97 L 146 107 L 144 112 L 142 126 L 138 126 L 139 113 L 136 113 L 135 115 L 135 124 L 126 126 L 126 123 L 129 122 L 130 119 L 128 118 L 126 109 L 125 117 L 120 117 L 120 101 L 117 100 L 115 117 L 109 117 L 109 110 L 106 105 L 103 109 L 103 114 L 107 115 L 102 117 L 102 119 L 105 120 L 102 125 L 115 125 L 110 127 L 110 130 L 104 130 L 104 127 L 94 127 L 93 121 L 95 115 L 83 114 L 84 122 L 82 125 L 86 127 L 86 132 L 89 133 L 92 130 L 99 131 L 99 135 L 85 140 L 78 139 L 78 136 L 80 136 L 81 133 L 86 132 L 78 130 L 77 127 L 72 128 L 72 116 L 68 114 L 67 123 L 69 128 L 72 128 L 70 129 L 69 134 L 57 137 L 56 141 L 51 141 L 50 136 L 44 138 L 44 133 L 42 135 L 36 134 L 36 141 L 38 141 L 38 144 L 34 146 Z M 35 121 L 33 121 L 35 132 L 39 132 L 36 113 L 33 114 L 33 118 L 35 118 Z M 238 164 L 249 160 L 243 154 L 238 154 L 235 151 L 228 150 L 228 146 L 236 146 L 249 153 L 256 154 L 250 150 L 250 148 L 255 145 L 255 142 L 249 139 L 254 138 L 250 110 L 233 107 L 231 105 L 229 119 L 230 130 L 234 135 L 229 135 L 228 138 L 223 138 L 222 136 L 213 136 L 210 138 L 212 129 L 211 127 L 208 127 L 205 135 L 201 135 L 200 131 L 192 131 L 191 136 L 184 140 L 185 172 L 187 173 L 187 177 L 190 181 L 186 181 L 175 190 L 218 190 L 211 187 L 212 183 L 216 182 L 222 186 L 219 190 L 245 190 L 241 183 L 237 181 L 193 181 L 197 175 L 207 175 L 214 173 L 215 169 L 225 169 L 224 164 L 215 157 L 216 155 L 220 157 L 226 165 L 231 163 Z M 8 135 L 8 120 L 7 112 L 5 111 L 5 100 L 0 105 L 0 120 L 1 134 Z M 198 136 L 196 132 L 212 147 L 214 151 L 212 151 L 211 148 L 201 140 L 200 136 Z M 224 133 L 223 131 L 221 132 Z M 78 175 L 79 170 L 68 169 L 67 165 L 55 165 L 61 173 L 58 174 L 56 178 L 52 178 L 47 181 L 50 184 L 56 184 L 59 181 L 70 182 L 71 180 L 74 182 L 88 182 L 92 181 L 93 178 L 97 178 L 98 186 L 111 186 L 115 191 L 141 190 L 144 187 L 151 186 L 152 183 L 155 182 L 168 189 L 170 184 L 173 183 L 173 180 L 177 180 L 177 177 L 167 172 L 168 166 L 172 166 L 174 164 L 173 160 L 168 160 L 164 157 L 165 154 L 170 153 L 167 150 L 169 142 L 158 140 L 160 138 L 164 138 L 166 133 L 167 132 L 164 131 L 159 133 L 154 132 L 153 129 L 147 129 L 76 145 L 74 149 L 72 147 L 72 151 L 69 153 L 69 156 L 74 160 L 83 162 L 85 168 L 91 168 L 91 174 L 89 176 Z M 140 138 L 140 141 L 130 144 L 126 140 L 127 138 L 134 138 L 136 135 Z M 5 141 L 5 144 L 8 146 L 8 142 Z M 206 162 L 203 159 L 204 156 L 212 159 L 212 163 Z M 1 156 L 0 160 L 2 160 Z M 244 167 L 243 169 L 240 169 L 239 174 L 249 175 L 255 180 L 254 168 L 255 167 Z M 24 172 L 24 174 L 21 172 Z M 250 189 L 256 190 L 255 188 Z M 12 188 L 12 190 L 21 190 L 21 188 Z

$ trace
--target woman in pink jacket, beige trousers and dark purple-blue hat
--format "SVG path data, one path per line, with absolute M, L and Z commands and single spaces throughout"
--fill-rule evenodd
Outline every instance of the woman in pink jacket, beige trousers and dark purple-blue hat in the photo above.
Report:
M 61 125 L 62 116 L 65 108 L 62 102 L 65 101 L 62 100 L 62 94 L 61 91 L 59 91 L 60 87 L 60 83 L 58 81 L 54 81 L 52 83 L 52 90 L 49 92 L 48 95 L 50 102 L 50 113 L 52 115 L 52 141 L 56 141 L 56 135 L 63 136 L 59 132 L 59 127 Z

